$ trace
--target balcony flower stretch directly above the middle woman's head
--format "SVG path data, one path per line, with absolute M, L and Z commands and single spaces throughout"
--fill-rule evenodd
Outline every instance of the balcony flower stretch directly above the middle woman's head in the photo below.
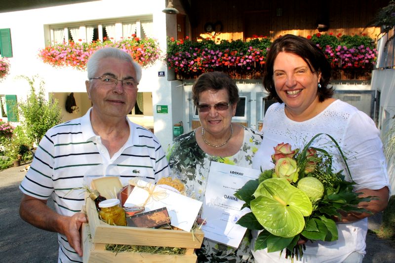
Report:
M 260 78 L 270 43 L 269 38 L 257 36 L 247 41 L 170 38 L 166 62 L 178 79 L 196 78 L 208 71 L 224 71 L 237 79 Z

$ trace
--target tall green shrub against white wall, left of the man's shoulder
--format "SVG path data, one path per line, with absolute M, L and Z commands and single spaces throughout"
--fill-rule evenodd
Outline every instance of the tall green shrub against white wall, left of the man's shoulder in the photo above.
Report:
M 49 96 L 45 99 L 44 81 L 40 79 L 39 93 L 36 94 L 36 82 L 39 76 L 34 75 L 32 78 L 21 75 L 30 85 L 30 94 L 26 102 L 19 103 L 19 113 L 22 115 L 22 125 L 26 131 L 27 137 L 34 143 L 39 144 L 46 131 L 59 124 L 61 121 L 61 109 L 57 100 Z

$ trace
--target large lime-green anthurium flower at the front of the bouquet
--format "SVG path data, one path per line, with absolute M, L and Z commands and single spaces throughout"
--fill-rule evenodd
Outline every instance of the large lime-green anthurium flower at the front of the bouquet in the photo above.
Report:
M 255 190 L 251 211 L 258 222 L 270 233 L 280 237 L 293 237 L 305 227 L 304 217 L 313 212 L 312 202 L 302 190 L 286 179 L 271 178 Z

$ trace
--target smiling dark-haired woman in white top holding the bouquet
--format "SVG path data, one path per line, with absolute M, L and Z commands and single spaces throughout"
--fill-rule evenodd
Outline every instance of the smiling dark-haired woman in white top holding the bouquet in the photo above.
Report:
M 359 206 L 369 213 L 350 213 L 337 224 L 339 238 L 332 242 L 308 242 L 302 261 L 360 263 L 365 254 L 367 217 L 384 210 L 389 198 L 389 179 L 379 131 L 372 119 L 355 107 L 332 98 L 327 87 L 330 65 L 323 52 L 306 38 L 285 35 L 271 45 L 265 65 L 264 86 L 273 104 L 265 114 L 264 138 L 253 159 L 253 168 L 271 169 L 273 148 L 289 143 L 303 148 L 316 134 L 331 135 L 345 152 L 355 190 L 361 196 L 376 196 Z M 347 171 L 330 139 L 318 137 L 313 147 L 333 156 L 334 171 Z M 347 175 L 347 180 L 350 175 Z M 253 232 L 254 238 L 257 232 Z M 254 242 L 252 242 L 254 243 Z M 289 262 L 278 252 L 252 251 L 256 262 Z M 295 262 L 295 261 L 294 261 Z

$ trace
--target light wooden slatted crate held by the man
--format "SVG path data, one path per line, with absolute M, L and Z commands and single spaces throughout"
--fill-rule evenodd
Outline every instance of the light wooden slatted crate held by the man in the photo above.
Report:
M 108 225 L 99 219 L 95 204 L 86 199 L 85 212 L 88 224 L 82 225 L 82 248 L 84 263 L 154 263 L 182 262 L 195 263 L 195 249 L 200 248 L 204 234 L 200 229 L 194 233 L 184 230 L 154 229 Z M 187 248 L 185 255 L 159 255 L 151 253 L 119 252 L 105 249 L 106 244 L 141 245 Z

